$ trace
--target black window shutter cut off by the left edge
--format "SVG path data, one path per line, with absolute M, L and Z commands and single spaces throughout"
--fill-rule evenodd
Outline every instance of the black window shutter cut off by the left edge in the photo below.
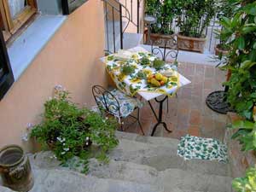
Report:
M 0 100 L 14 83 L 14 76 L 9 65 L 9 57 L 3 39 L 3 33 L 0 32 Z

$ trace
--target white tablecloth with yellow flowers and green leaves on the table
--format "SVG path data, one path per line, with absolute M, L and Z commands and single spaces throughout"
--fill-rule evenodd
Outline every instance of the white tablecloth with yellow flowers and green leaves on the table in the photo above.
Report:
M 134 96 L 138 91 L 139 92 L 152 92 L 160 93 L 168 96 L 172 96 L 177 88 L 180 86 L 179 73 L 177 73 L 176 68 L 172 67 L 170 63 L 166 63 L 164 67 L 161 67 L 160 70 L 156 70 L 150 64 L 142 65 L 141 59 L 147 57 L 149 61 L 153 62 L 156 57 L 149 54 L 147 51 L 134 51 L 131 52 L 131 58 L 128 60 L 120 60 L 117 55 L 108 55 L 103 61 L 106 64 L 107 70 L 114 83 L 117 85 L 119 90 L 125 92 L 125 94 Z M 130 75 L 124 75 L 121 73 L 122 65 L 131 65 L 135 67 L 135 72 Z M 152 84 L 148 84 L 147 79 L 137 78 L 137 73 L 143 71 L 148 74 L 161 73 L 163 71 L 169 71 L 172 73 L 172 76 L 168 78 L 168 82 L 160 87 L 156 87 Z M 176 89 L 173 89 L 173 88 Z

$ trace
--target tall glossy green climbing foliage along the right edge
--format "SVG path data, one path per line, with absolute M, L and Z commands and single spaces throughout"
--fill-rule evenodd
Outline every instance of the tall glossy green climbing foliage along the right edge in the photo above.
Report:
M 229 87 L 227 102 L 243 118 L 233 125 L 233 128 L 240 128 L 233 138 L 240 141 L 243 150 L 255 150 L 256 1 L 232 2 L 236 5 L 234 17 L 220 20 L 221 38 L 230 46 L 223 68 L 229 69 L 231 76 L 224 84 Z

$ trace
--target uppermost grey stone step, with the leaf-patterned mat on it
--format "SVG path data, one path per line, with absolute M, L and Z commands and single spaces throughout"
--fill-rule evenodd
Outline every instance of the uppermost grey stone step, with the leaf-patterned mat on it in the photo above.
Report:
M 110 153 L 113 160 L 152 166 L 157 171 L 173 168 L 203 174 L 230 176 L 228 164 L 212 160 L 183 160 L 182 157 L 177 156 L 177 139 L 141 137 L 134 136 L 134 134 L 127 134 L 127 136 L 119 134 L 118 137 L 119 146 Z

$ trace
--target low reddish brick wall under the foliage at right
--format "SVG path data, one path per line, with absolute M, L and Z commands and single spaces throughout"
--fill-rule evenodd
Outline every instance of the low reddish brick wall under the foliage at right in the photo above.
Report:
M 236 113 L 228 113 L 228 124 L 240 119 Z M 231 139 L 236 132 L 233 129 L 225 131 L 224 143 L 228 146 L 228 153 L 230 156 L 230 171 L 232 177 L 243 177 L 249 166 L 256 164 L 255 152 L 241 152 L 241 145 L 236 140 Z

